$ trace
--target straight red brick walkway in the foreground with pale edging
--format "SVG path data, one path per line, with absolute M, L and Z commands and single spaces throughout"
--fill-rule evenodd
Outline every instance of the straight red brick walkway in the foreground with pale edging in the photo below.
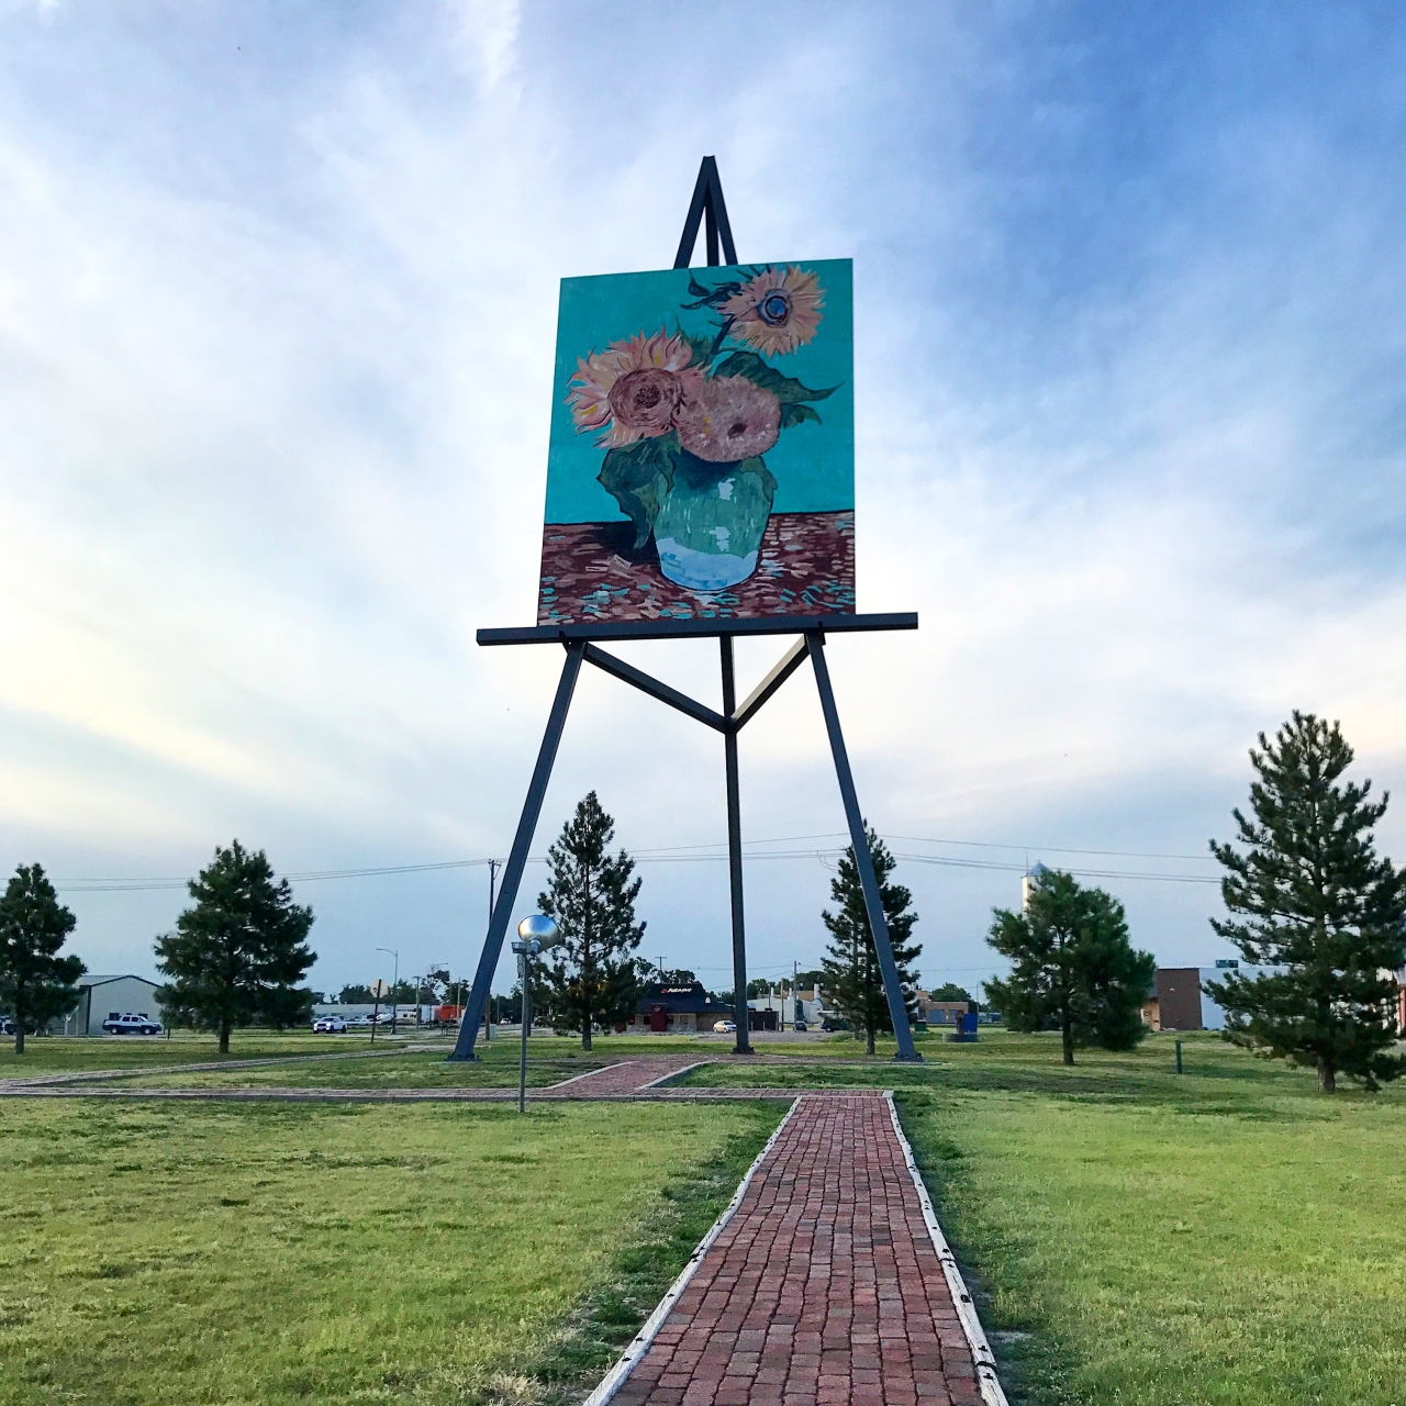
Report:
M 979 1403 L 884 1098 L 803 1097 L 613 1406 Z

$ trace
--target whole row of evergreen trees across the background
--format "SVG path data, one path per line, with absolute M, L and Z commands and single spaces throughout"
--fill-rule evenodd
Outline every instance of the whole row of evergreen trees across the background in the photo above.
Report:
M 1344 779 L 1353 749 L 1337 723 L 1295 711 L 1275 737 L 1250 749 L 1256 780 L 1249 814 L 1233 811 L 1236 838 L 1211 842 L 1222 863 L 1229 917 L 1212 928 L 1234 943 L 1254 974 L 1229 973 L 1205 987 L 1226 1011 L 1226 1038 L 1258 1053 L 1308 1064 L 1331 1092 L 1339 1076 L 1368 1090 L 1406 1073 L 1398 1049 L 1398 970 L 1406 965 L 1406 875 L 1375 849 L 1374 827 L 1389 797 L 1371 782 Z M 896 860 L 866 827 L 894 962 L 910 1021 L 917 1015 L 922 948 L 911 893 L 894 880 Z M 641 882 L 626 851 L 612 852 L 614 821 L 595 792 L 585 796 L 548 849 L 541 912 L 564 942 L 533 973 L 534 1008 L 589 1049 L 596 1029 L 624 1028 L 645 983 L 692 980 L 692 972 L 641 960 L 645 924 L 636 917 Z M 214 1031 L 228 1052 L 232 1031 L 256 1022 L 288 1028 L 311 1015 L 316 993 L 302 986 L 315 953 L 307 938 L 314 914 L 292 901 L 263 851 L 239 841 L 217 848 L 188 884 L 191 904 L 173 931 L 156 939 L 166 977 L 159 1000 L 170 1024 Z M 839 858 L 831 903 L 821 914 L 830 935 L 820 981 L 834 1007 L 873 1053 L 891 1031 L 889 1002 L 869 929 L 853 848 Z M 62 948 L 73 914 L 59 903 L 41 865 L 21 865 L 0 897 L 0 1011 L 25 1035 L 73 1011 L 84 966 Z M 1147 1033 L 1142 1005 L 1156 962 L 1132 946 L 1122 904 L 1069 873 L 1045 870 L 1022 911 L 997 908 L 987 942 L 1011 965 L 986 983 L 987 1001 L 1021 1032 L 1060 1036 L 1066 1064 L 1080 1046 L 1126 1050 Z M 797 974 L 801 984 L 801 974 Z M 440 994 L 447 972 L 399 983 L 387 1001 Z M 783 990 L 790 981 L 779 983 Z M 773 983 L 748 983 L 763 995 Z M 934 993 L 963 1000 L 955 984 Z M 731 998 L 731 993 L 725 993 Z M 364 987 L 342 998 L 370 1000 Z M 520 993 L 495 998 L 502 1014 L 520 1010 Z

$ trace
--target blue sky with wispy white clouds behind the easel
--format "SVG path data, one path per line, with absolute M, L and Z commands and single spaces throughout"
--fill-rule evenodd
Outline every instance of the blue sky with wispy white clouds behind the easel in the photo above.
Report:
M 666 267 L 714 155 L 741 259 L 855 260 L 859 609 L 921 628 L 828 658 L 924 980 L 1036 860 L 1230 955 L 1257 733 L 1406 783 L 1403 115 L 1392 3 L 0 0 L 0 869 L 155 974 L 217 844 L 406 868 L 295 877 L 311 984 L 471 973 L 560 669 L 474 643 L 533 623 L 558 280 Z M 619 652 L 716 703 L 711 643 Z M 741 754 L 780 976 L 844 830 L 806 673 Z M 588 671 L 534 855 L 592 789 L 641 955 L 730 986 L 720 740 Z

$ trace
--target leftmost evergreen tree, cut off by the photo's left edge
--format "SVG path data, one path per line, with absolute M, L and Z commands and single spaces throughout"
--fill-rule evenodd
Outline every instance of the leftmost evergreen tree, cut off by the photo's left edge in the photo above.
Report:
M 0 898 L 0 1011 L 14 1019 L 15 1054 L 24 1053 L 25 1032 L 79 1004 L 76 983 L 87 967 L 58 955 L 75 921 L 39 865 L 15 869 Z

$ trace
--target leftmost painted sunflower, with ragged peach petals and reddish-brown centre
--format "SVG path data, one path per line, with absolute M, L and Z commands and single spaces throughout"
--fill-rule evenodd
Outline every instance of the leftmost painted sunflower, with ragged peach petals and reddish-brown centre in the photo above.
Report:
M 576 433 L 605 429 L 596 440 L 602 449 L 666 434 L 675 411 L 703 381 L 692 360 L 689 343 L 662 330 L 652 336 L 638 332 L 579 357 L 576 374 L 567 382 Z

